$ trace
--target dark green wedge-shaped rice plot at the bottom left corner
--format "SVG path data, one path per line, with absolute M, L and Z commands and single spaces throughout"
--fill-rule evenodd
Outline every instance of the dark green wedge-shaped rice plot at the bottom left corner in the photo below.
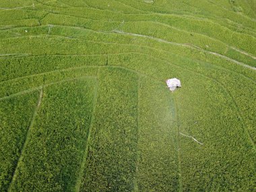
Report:
M 0 191 L 6 191 L 24 148 L 39 92 L 0 100 Z

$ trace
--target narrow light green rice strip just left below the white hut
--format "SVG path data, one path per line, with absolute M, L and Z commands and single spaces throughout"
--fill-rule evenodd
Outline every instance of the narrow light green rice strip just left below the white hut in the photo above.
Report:
M 179 191 L 179 143 L 173 97 L 162 82 L 139 79 L 135 191 Z

